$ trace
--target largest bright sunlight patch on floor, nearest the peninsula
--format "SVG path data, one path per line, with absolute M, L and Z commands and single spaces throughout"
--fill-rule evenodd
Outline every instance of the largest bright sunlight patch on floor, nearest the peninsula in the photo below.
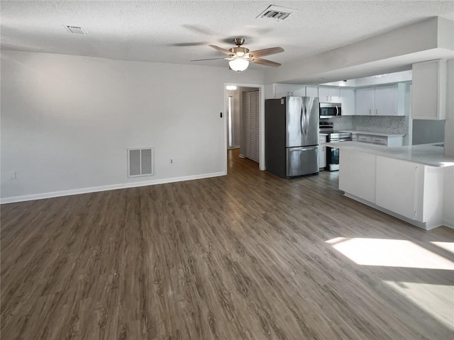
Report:
M 453 261 L 404 239 L 336 237 L 326 243 L 348 259 L 364 266 L 454 270 Z

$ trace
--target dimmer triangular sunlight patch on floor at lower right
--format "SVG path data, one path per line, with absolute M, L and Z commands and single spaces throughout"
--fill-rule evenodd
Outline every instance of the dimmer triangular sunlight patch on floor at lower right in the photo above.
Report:
M 383 281 L 415 305 L 454 329 L 454 287 L 427 283 Z

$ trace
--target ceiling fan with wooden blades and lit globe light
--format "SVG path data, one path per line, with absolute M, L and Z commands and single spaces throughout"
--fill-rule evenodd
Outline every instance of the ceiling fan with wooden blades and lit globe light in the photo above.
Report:
M 212 47 L 215 50 L 218 50 L 219 52 L 225 53 L 226 55 L 228 55 L 228 57 L 198 59 L 191 61 L 201 62 L 203 60 L 219 60 L 219 59 L 228 60 L 230 68 L 237 72 L 241 72 L 247 69 L 249 66 L 249 62 L 255 62 L 255 64 L 262 64 L 273 67 L 281 66 L 279 62 L 272 62 L 270 60 L 262 59 L 262 57 L 265 57 L 265 55 L 275 55 L 276 53 L 284 52 L 284 49 L 282 47 L 270 47 L 250 52 L 248 48 L 241 47 L 241 45 L 243 45 L 245 41 L 243 38 L 235 38 L 233 39 L 233 41 L 235 42 L 236 47 L 231 47 L 228 50 L 222 47 L 218 47 L 216 45 L 209 45 L 209 47 Z

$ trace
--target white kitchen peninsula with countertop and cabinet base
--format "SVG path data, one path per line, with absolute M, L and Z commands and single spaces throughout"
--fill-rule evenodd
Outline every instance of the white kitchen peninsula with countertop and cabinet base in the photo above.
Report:
M 345 196 L 426 230 L 453 227 L 454 157 L 443 154 L 443 144 L 324 145 L 341 150 L 339 189 Z

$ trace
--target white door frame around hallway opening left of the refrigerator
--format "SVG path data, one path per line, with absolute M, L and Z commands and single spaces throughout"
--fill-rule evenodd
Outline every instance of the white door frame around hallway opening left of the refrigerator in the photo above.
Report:
M 260 112 L 259 112 L 259 162 L 258 167 L 260 170 L 265 170 L 265 85 L 263 84 L 245 84 L 245 83 L 223 83 L 223 111 L 227 107 L 227 89 L 226 86 L 235 85 L 238 87 L 255 87 L 258 89 Z M 224 171 L 227 174 L 227 113 L 223 115 L 223 126 L 224 126 Z

